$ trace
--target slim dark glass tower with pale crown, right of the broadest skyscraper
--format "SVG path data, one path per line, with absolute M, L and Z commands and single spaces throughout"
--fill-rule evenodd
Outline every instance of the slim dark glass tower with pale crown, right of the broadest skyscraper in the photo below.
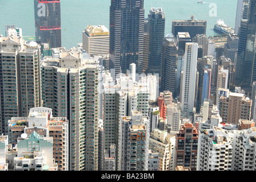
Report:
M 161 76 L 163 38 L 165 38 L 165 13 L 162 8 L 149 11 L 149 72 Z

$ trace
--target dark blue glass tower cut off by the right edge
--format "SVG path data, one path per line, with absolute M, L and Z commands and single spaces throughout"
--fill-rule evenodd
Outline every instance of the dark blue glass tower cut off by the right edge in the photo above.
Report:
M 256 1 L 248 0 L 243 5 L 239 27 L 239 43 L 235 66 L 235 84 L 245 90 L 251 90 L 256 81 L 255 34 L 256 34 Z

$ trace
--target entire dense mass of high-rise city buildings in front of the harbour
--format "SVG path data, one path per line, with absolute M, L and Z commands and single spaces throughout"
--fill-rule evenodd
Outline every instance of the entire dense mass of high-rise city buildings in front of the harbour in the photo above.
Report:
M 61 1 L 34 3 L 36 42 L 0 36 L 0 171 L 255 170 L 254 0 L 221 43 L 205 20 L 165 35 L 162 7 L 113 0 L 109 29 L 68 50 Z

